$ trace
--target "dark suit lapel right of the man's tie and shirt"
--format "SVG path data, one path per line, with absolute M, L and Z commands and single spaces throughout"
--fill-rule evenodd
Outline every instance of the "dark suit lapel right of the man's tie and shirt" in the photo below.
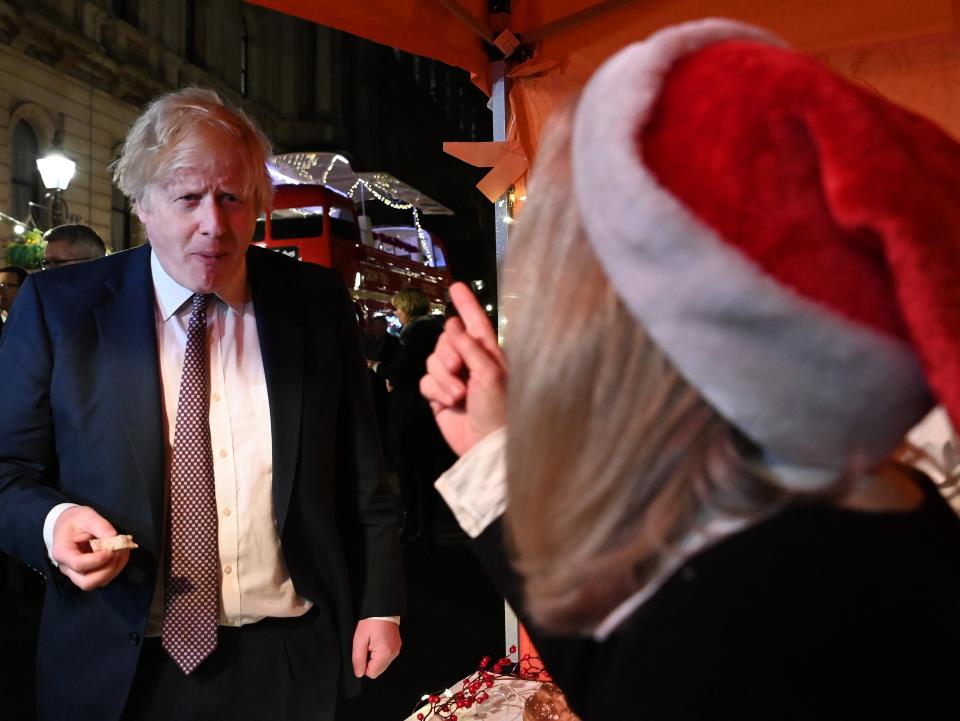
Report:
M 270 398 L 273 504 L 277 531 L 282 535 L 300 455 L 304 303 L 290 264 L 271 253 L 252 248 L 247 253 L 247 270 Z

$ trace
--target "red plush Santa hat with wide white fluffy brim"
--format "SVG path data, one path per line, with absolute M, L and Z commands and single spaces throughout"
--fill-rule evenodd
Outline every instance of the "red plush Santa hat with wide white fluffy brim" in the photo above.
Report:
M 621 298 L 779 462 L 960 420 L 960 146 L 764 31 L 663 30 L 578 103 L 576 200 Z

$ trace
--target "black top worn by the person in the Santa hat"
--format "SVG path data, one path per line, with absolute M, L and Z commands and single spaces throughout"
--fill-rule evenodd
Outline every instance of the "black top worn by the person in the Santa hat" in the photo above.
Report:
M 584 721 L 957 718 L 960 521 L 924 489 L 912 512 L 791 507 L 689 560 L 602 643 L 531 636 Z M 499 523 L 476 545 L 516 601 Z

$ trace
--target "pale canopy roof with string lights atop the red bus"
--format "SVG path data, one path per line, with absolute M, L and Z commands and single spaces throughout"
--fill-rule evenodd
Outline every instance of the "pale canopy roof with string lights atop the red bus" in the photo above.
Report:
M 270 173 L 279 182 L 326 185 L 356 200 L 374 197 L 400 210 L 416 208 L 424 215 L 453 211 L 411 185 L 384 172 L 356 172 L 339 153 L 284 153 L 270 159 Z

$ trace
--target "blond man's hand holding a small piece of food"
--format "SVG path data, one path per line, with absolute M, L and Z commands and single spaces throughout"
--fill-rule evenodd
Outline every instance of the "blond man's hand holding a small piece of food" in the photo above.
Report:
M 89 506 L 60 514 L 53 527 L 53 558 L 60 572 L 84 591 L 106 586 L 130 560 L 130 551 L 92 551 L 91 538 L 111 538 L 117 532 Z

